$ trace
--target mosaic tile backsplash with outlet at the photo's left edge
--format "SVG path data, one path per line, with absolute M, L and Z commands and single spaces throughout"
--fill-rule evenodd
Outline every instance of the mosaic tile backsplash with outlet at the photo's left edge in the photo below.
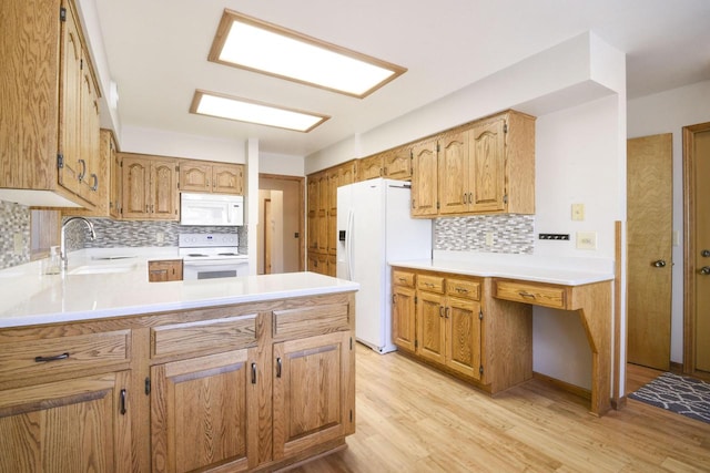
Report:
M 21 239 L 16 253 L 16 238 Z M 30 207 L 0 200 L 0 269 L 30 261 Z

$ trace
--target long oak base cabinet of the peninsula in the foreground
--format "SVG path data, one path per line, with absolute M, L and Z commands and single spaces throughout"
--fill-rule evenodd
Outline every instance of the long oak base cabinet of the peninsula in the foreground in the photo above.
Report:
M 341 292 L 0 329 L 0 472 L 274 471 L 342 448 L 354 321 Z

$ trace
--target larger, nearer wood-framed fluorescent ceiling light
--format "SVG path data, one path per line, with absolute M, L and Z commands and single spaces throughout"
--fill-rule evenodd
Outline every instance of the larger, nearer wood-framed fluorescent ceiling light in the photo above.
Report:
M 224 10 L 209 59 L 361 99 L 406 72 L 232 10 Z

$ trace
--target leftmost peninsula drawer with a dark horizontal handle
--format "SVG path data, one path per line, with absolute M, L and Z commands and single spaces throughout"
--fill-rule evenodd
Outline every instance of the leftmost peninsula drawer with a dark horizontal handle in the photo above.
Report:
M 0 381 L 128 362 L 130 330 L 2 343 Z

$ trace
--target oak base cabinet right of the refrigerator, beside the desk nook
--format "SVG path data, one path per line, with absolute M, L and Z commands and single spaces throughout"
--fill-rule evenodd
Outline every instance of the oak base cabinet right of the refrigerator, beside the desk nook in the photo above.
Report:
M 392 270 L 399 350 L 490 393 L 532 377 L 529 307 L 494 298 L 489 278 Z

